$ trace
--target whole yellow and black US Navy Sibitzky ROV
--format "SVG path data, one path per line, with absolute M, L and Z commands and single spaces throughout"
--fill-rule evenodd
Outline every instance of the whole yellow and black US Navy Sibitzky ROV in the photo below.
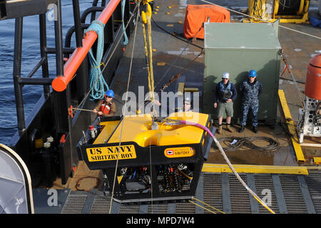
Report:
M 127 115 L 101 118 L 96 134 L 78 151 L 91 170 L 103 170 L 103 191 L 116 202 L 192 199 L 213 138 L 210 115 L 173 113 L 168 118 Z

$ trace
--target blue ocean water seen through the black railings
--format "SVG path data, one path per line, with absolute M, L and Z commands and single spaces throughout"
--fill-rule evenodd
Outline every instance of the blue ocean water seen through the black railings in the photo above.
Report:
M 92 1 L 79 0 L 81 13 L 92 6 Z M 71 0 L 61 0 L 63 21 L 63 43 L 66 32 L 73 26 L 73 6 Z M 87 17 L 87 21 L 90 16 Z M 14 19 L 0 21 L 0 143 L 9 145 L 12 136 L 18 130 L 16 118 L 16 102 L 14 97 L 13 63 L 14 63 Z M 54 47 L 54 21 L 47 12 L 47 46 Z M 72 39 L 71 46 L 75 46 Z M 21 76 L 26 77 L 40 60 L 39 16 L 24 18 L 22 41 Z M 41 68 L 34 78 L 41 77 Z M 50 78 L 56 76 L 55 56 L 49 55 Z M 23 88 L 25 118 L 34 108 L 34 104 L 43 93 L 43 86 L 29 86 Z

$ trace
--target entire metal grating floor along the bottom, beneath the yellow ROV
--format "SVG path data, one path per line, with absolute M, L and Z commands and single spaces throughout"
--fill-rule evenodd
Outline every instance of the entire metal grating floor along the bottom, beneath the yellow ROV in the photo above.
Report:
M 198 195 L 198 199 L 211 207 L 232 214 L 270 213 L 261 204 L 253 200 L 253 197 L 232 173 L 204 172 L 202 175 L 203 182 L 200 182 L 200 185 L 203 191 L 201 191 L 202 195 Z M 320 171 L 310 172 L 308 176 L 240 173 L 240 177 L 251 186 L 251 189 L 254 188 L 256 194 L 265 202 L 268 202 L 265 198 L 266 192 L 270 190 L 269 206 L 276 213 L 300 214 L 315 211 L 317 214 L 321 214 Z M 228 188 L 225 188 L 224 192 L 223 182 L 224 186 L 228 184 Z M 215 209 L 201 202 L 194 202 L 215 212 Z M 101 195 L 101 192 L 94 194 L 90 192 L 71 192 L 63 205 L 61 214 L 107 214 L 110 207 L 111 197 L 105 197 Z M 190 202 L 142 205 L 113 202 L 112 208 L 112 213 L 119 214 L 210 214 L 206 209 Z

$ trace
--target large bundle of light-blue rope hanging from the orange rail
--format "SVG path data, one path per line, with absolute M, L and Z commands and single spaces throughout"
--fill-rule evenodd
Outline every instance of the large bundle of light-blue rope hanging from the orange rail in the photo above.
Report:
M 98 35 L 98 42 L 97 42 L 97 53 L 96 58 L 93 56 L 93 50 L 89 51 L 89 61 L 91 63 L 91 100 L 103 99 L 105 95 L 104 86 L 108 88 L 108 85 L 103 79 L 101 73 L 101 59 L 103 58 L 103 28 L 105 24 L 101 21 L 93 21 L 91 25 L 85 30 L 85 33 L 88 31 L 95 31 Z

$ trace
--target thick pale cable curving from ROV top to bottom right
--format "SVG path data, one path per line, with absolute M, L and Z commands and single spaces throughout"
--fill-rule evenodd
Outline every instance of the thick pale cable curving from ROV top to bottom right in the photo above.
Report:
M 188 122 L 188 121 L 185 121 L 185 120 L 163 119 L 162 122 L 165 123 L 165 124 L 168 124 L 168 125 L 193 125 L 193 126 L 195 126 L 197 128 L 201 128 L 201 129 L 205 130 L 208 134 L 210 134 L 210 137 L 213 138 L 215 144 L 217 145 L 218 149 L 220 150 L 220 153 L 223 155 L 225 162 L 228 163 L 228 166 L 230 167 L 230 170 L 232 170 L 232 172 L 234 173 L 235 177 L 238 178 L 240 183 L 245 187 L 246 190 L 248 190 L 250 195 L 252 195 L 269 212 L 271 212 L 272 214 L 275 214 L 275 212 L 272 209 L 270 209 L 270 207 L 268 207 L 267 204 L 265 202 L 263 202 L 263 200 L 260 199 L 260 197 L 258 197 L 258 195 L 256 195 L 255 192 L 253 192 L 253 190 L 250 189 L 250 187 L 248 187 L 248 185 L 246 185 L 246 183 L 243 181 L 243 179 L 240 177 L 240 175 L 238 175 L 238 172 L 236 172 L 236 170 L 234 169 L 233 165 L 230 163 L 230 160 L 228 160 L 228 156 L 226 156 L 226 154 L 225 154 L 225 152 L 223 150 L 223 147 L 221 147 L 221 145 L 220 145 L 220 142 L 218 142 L 218 139 L 215 138 L 213 133 L 211 133 L 208 128 L 206 128 L 203 125 L 200 125 L 199 123 Z

